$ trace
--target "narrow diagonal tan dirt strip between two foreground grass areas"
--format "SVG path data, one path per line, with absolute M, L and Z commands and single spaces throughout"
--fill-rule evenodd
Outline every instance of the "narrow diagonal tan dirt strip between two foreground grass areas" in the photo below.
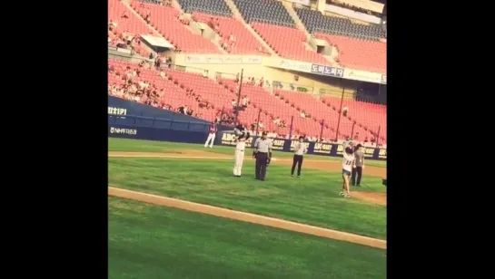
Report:
M 183 210 L 220 216 L 224 218 L 229 218 L 233 220 L 249 222 L 253 224 L 272 226 L 277 228 L 282 228 L 286 230 L 291 230 L 299 232 L 302 234 L 309 234 L 313 236 L 322 236 L 327 238 L 332 238 L 336 240 L 351 242 L 360 245 L 367 245 L 371 247 L 387 249 L 387 241 L 381 239 L 375 239 L 367 236 L 358 236 L 349 233 L 339 232 L 332 229 L 322 228 L 318 226 L 309 226 L 300 223 L 285 221 L 282 219 L 260 216 L 250 213 L 245 213 L 241 211 L 234 211 L 231 209 L 226 209 L 222 207 L 212 207 L 207 205 L 202 205 L 198 203 L 193 203 L 189 201 L 184 201 L 181 199 L 176 199 L 172 197 L 161 197 L 152 194 L 146 194 L 142 192 L 135 192 L 132 190 L 122 189 L 122 188 L 108 188 L 108 195 L 114 197 L 123 197 L 128 199 L 134 199 L 154 205 L 164 206 L 164 207 L 175 207 Z

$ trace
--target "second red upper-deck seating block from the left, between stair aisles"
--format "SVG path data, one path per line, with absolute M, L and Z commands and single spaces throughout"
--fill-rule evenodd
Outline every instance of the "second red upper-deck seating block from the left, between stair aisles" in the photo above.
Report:
M 117 1 L 117 0 L 114 0 Z M 163 5 L 153 5 L 134 1 L 131 6 L 136 12 L 144 16 L 151 13 L 151 24 L 163 37 L 184 53 L 221 53 L 216 45 L 203 38 L 200 34 L 193 34 L 186 25 L 177 19 L 179 10 Z

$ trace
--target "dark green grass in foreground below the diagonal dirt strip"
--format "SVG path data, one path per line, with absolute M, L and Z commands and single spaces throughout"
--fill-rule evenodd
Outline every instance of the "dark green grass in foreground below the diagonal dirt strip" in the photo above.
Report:
M 386 252 L 109 197 L 114 279 L 386 277 Z

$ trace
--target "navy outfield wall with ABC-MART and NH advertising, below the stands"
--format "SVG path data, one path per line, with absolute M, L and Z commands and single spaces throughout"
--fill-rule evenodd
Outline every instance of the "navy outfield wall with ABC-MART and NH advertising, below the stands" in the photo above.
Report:
M 135 118 L 136 120 L 131 120 Z M 114 120 L 114 121 L 112 121 Z M 208 131 L 203 130 L 207 126 L 203 123 L 181 120 L 142 119 L 142 117 L 127 117 L 119 120 L 113 117 L 108 122 L 108 137 L 124 139 L 147 139 L 159 141 L 173 141 L 204 144 L 208 137 Z M 254 140 L 252 137 L 246 142 L 246 147 L 251 148 Z M 272 139 L 273 150 L 292 152 L 297 140 Z M 343 146 L 338 143 L 306 142 L 308 154 L 342 157 Z M 235 146 L 235 137 L 231 131 L 220 130 L 215 138 L 215 145 Z M 366 159 L 387 159 L 387 149 L 366 148 Z

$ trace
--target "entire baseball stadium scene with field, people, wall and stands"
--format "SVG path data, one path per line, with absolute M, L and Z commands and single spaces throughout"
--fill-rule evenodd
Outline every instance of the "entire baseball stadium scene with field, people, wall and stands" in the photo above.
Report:
M 109 278 L 386 277 L 384 1 L 108 0 L 107 29 Z

